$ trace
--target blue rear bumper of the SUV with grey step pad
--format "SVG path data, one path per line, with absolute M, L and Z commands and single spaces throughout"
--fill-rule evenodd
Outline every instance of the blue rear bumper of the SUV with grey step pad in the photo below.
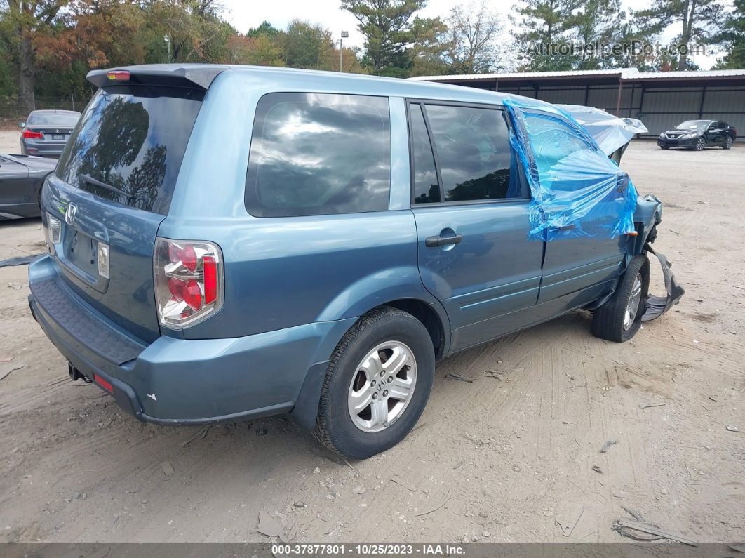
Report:
M 34 319 L 72 366 L 86 378 L 96 374 L 109 382 L 127 413 L 162 425 L 232 422 L 293 410 L 308 370 L 325 370 L 351 325 L 312 323 L 229 339 L 162 336 L 147 345 L 77 297 L 49 256 L 29 266 L 29 283 Z

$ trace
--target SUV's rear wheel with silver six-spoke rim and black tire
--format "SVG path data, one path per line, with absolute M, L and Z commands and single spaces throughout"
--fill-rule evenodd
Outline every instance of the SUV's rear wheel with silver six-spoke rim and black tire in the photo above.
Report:
M 344 335 L 329 361 L 315 436 L 349 459 L 392 448 L 416 425 L 433 380 L 427 329 L 397 308 L 375 308 Z

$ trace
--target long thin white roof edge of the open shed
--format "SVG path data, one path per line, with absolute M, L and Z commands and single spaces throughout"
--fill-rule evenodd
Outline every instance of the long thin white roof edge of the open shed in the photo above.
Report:
M 417 81 L 503 80 L 530 79 L 531 77 L 581 77 L 591 75 L 618 75 L 621 80 L 655 80 L 702 77 L 745 77 L 744 69 L 703 70 L 700 72 L 639 72 L 636 68 L 612 68 L 606 70 L 576 70 L 571 72 L 505 72 L 501 74 L 420 75 L 410 77 Z

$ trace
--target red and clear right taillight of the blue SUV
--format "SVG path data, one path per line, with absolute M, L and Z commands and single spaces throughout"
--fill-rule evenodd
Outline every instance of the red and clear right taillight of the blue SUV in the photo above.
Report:
M 223 306 L 222 253 L 203 241 L 155 242 L 155 298 L 163 326 L 182 329 Z

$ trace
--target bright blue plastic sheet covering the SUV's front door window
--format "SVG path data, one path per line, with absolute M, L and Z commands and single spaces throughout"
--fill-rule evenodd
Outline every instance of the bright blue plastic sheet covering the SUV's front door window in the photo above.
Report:
M 510 142 L 530 186 L 528 238 L 615 238 L 634 231 L 636 188 L 568 113 L 506 99 Z

